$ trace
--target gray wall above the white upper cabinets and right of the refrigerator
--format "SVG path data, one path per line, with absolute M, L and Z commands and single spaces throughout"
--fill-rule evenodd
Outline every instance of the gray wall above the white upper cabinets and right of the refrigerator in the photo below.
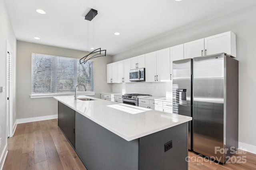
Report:
M 172 47 L 226 31 L 236 34 L 239 61 L 239 142 L 256 146 L 256 6 L 207 21 L 200 25 L 180 29 L 144 45 L 113 56 L 113 62 L 159 49 Z

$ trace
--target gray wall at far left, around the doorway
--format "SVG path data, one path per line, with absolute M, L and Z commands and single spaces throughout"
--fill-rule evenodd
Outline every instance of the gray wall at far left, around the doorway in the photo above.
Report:
M 6 87 L 6 54 L 7 54 L 7 41 L 13 50 L 13 64 L 14 64 L 14 74 L 13 74 L 13 113 L 16 112 L 16 38 L 8 16 L 4 0 L 0 0 L 0 86 Z M 0 156 L 4 151 L 4 147 L 7 145 L 7 128 L 6 128 L 6 92 L 0 93 L 0 138 L 2 138 L 2 146 L 0 148 Z M 15 121 L 15 117 L 14 117 Z M 1 160 L 0 160 L 1 166 Z

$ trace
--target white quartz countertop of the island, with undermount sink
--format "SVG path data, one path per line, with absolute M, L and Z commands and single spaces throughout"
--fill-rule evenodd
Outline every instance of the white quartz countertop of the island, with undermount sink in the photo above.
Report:
M 127 141 L 192 120 L 192 117 L 188 116 L 126 104 L 116 104 L 115 102 L 89 96 L 78 96 L 78 98 L 94 100 L 74 100 L 74 96 L 54 98 Z

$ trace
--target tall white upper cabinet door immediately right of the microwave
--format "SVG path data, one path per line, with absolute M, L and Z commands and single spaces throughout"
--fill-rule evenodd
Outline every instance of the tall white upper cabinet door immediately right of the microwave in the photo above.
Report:
M 146 54 L 146 82 L 156 82 L 156 51 Z

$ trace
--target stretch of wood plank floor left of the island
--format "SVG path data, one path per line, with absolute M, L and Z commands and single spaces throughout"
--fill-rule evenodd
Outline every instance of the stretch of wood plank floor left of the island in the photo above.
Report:
M 86 170 L 58 128 L 58 119 L 18 124 L 3 170 Z

